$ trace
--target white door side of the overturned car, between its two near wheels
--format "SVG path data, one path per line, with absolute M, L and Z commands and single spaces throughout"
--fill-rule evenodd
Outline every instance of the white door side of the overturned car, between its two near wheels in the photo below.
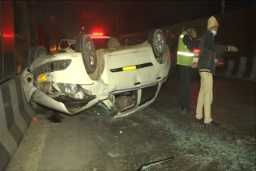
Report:
M 118 93 L 126 91 L 133 87 L 133 89 L 138 89 L 142 86 L 148 86 L 156 81 L 157 78 L 164 78 L 169 72 L 167 66 L 170 66 L 170 60 L 167 60 L 164 64 L 159 64 L 154 58 L 153 51 L 149 44 L 129 46 L 128 48 L 120 51 L 114 51 L 109 53 L 107 57 L 105 56 L 106 63 L 106 73 L 108 78 L 114 78 L 109 80 L 109 93 Z M 153 66 L 149 68 L 141 68 L 139 70 L 128 70 L 122 72 L 111 72 L 111 69 L 120 68 L 124 66 L 136 66 L 138 64 L 152 63 Z M 159 70 L 162 68 L 163 70 Z M 166 70 L 164 70 L 166 69 Z M 125 79 L 124 79 L 125 78 Z M 140 82 L 138 85 L 134 83 Z

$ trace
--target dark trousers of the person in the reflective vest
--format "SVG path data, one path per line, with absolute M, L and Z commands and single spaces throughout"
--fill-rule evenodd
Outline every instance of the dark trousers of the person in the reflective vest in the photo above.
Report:
M 190 108 L 191 66 L 180 66 L 179 106 Z

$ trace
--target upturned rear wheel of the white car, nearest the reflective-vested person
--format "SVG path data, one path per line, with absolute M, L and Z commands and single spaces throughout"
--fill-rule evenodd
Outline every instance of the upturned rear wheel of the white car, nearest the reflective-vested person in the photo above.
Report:
M 162 30 L 151 30 L 148 37 L 148 42 L 152 46 L 155 58 L 161 58 L 166 52 L 166 38 Z

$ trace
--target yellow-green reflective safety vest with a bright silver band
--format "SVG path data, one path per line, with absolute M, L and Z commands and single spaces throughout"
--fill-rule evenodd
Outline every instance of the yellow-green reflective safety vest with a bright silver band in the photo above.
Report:
M 182 66 L 193 66 L 194 52 L 187 49 L 184 45 L 183 38 L 185 35 L 189 35 L 190 37 L 190 34 L 183 31 L 178 39 L 177 64 Z

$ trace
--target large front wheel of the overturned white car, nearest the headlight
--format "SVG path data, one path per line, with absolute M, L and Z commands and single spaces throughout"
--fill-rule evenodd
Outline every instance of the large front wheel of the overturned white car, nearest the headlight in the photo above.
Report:
M 96 50 L 89 34 L 83 34 L 78 38 L 75 51 L 82 53 L 82 61 L 88 74 L 94 73 L 97 67 Z

